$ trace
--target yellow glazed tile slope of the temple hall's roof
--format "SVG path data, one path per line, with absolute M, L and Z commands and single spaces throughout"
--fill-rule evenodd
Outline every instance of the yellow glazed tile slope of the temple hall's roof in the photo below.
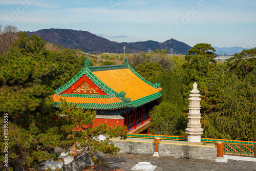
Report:
M 143 98 L 162 89 L 155 89 L 137 77 L 130 69 L 94 71 L 103 83 L 116 92 L 125 92 L 132 101 Z

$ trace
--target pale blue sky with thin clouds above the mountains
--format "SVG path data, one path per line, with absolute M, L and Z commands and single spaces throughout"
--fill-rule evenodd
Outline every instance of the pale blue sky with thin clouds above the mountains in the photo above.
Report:
M 255 0 L 0 0 L 0 25 L 73 29 L 117 42 L 170 38 L 193 47 L 256 47 Z

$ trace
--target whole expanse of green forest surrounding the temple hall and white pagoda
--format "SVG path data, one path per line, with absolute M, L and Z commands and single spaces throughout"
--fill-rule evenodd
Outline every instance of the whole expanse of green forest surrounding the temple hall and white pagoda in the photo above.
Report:
M 96 112 L 76 109 L 66 102 L 56 111 L 51 96 L 81 70 L 86 58 L 90 58 L 90 66 L 117 65 L 124 63 L 124 54 L 87 55 L 79 49 L 50 44 L 42 37 L 14 32 L 0 31 L 0 41 L 6 42 L 0 49 L 0 127 L 8 130 L 8 164 L 36 169 L 38 163 L 57 156 L 57 147 L 73 147 L 74 156 L 75 149 L 88 147 L 92 159 L 105 164 L 97 153 L 115 154 L 119 149 L 109 144 L 108 138 L 97 141 L 93 137 L 101 133 L 125 138 L 125 127 L 92 128 Z M 167 55 L 163 49 L 125 54 L 142 77 L 162 87 L 160 104 L 150 111 L 151 134 L 186 136 L 188 95 L 197 82 L 202 99 L 202 137 L 256 141 L 256 48 L 224 62 L 214 60 L 214 52 L 211 45 L 200 43 L 185 56 Z M 73 132 L 80 124 L 89 127 Z M 4 133 L 0 139 L 6 139 Z M 0 148 L 3 163 L 4 143 Z

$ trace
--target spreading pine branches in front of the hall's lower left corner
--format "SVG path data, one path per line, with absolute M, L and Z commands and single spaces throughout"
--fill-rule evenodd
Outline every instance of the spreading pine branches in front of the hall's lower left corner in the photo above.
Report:
M 75 146 L 71 154 L 72 156 L 77 156 L 78 152 L 76 149 L 86 149 L 89 155 L 92 155 L 92 160 L 94 163 L 101 163 L 107 166 L 106 163 L 102 161 L 102 156 L 99 152 L 116 154 L 120 148 L 115 147 L 113 143 L 109 140 L 113 137 L 121 136 L 125 139 L 126 129 L 125 126 L 109 126 L 106 124 L 99 124 L 97 127 L 93 126 L 93 119 L 96 116 L 95 111 L 84 111 L 83 109 L 77 109 L 76 105 L 69 105 L 67 102 L 63 102 L 61 106 L 61 115 L 66 117 L 61 117 L 61 133 L 66 135 L 66 139 L 62 139 L 62 145 L 64 147 L 69 147 L 74 143 L 79 144 Z M 79 132 L 74 132 L 74 130 L 81 130 Z M 105 140 L 99 140 L 99 136 L 104 136 Z

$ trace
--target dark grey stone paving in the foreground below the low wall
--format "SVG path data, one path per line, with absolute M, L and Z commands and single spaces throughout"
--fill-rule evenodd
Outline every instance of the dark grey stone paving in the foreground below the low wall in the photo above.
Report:
M 155 171 L 170 170 L 170 171 L 205 171 L 205 170 L 219 170 L 219 171 L 256 171 L 256 162 L 252 161 L 238 161 L 228 160 L 227 163 L 214 162 L 200 159 L 175 159 L 171 157 L 152 157 L 152 156 L 137 156 L 129 154 L 117 154 L 117 156 L 105 155 L 104 160 L 108 163 L 109 168 L 102 166 L 90 166 L 87 170 L 111 170 L 124 171 L 131 170 L 131 168 L 138 162 L 150 162 L 156 165 Z

